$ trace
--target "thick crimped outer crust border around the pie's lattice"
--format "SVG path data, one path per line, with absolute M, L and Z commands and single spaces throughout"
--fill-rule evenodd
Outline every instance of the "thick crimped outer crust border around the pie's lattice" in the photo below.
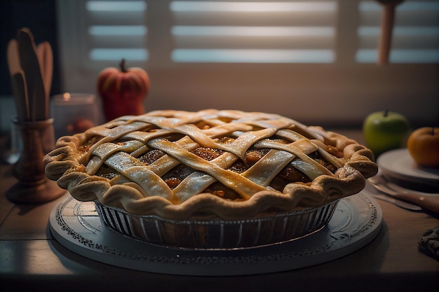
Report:
M 201 193 L 180 203 L 173 204 L 164 197 L 144 197 L 136 183 L 111 186 L 109 179 L 90 176 L 79 163 L 78 148 L 86 134 L 61 137 L 55 150 L 44 157 L 46 175 L 69 191 L 76 200 L 98 200 L 102 204 L 126 210 L 134 215 L 156 215 L 161 218 L 182 220 L 209 216 L 227 220 L 252 218 L 266 214 L 288 213 L 309 207 L 320 207 L 342 197 L 356 194 L 365 187 L 365 179 L 377 174 L 372 151 L 335 132 L 325 132 L 321 127 L 309 127 L 335 142 L 347 158 L 335 176 L 322 175 L 311 184 L 290 183 L 283 193 L 263 190 L 249 200 L 228 201 L 210 193 Z

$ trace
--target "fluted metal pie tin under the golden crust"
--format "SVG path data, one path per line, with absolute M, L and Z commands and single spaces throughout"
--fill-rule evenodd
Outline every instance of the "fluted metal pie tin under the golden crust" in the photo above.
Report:
M 317 208 L 243 220 L 137 216 L 95 201 L 101 221 L 143 242 L 176 249 L 246 249 L 299 239 L 322 229 L 339 200 Z

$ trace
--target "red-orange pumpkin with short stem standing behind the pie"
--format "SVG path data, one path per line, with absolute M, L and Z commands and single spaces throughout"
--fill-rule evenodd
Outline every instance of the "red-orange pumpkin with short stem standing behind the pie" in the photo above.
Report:
M 149 76 L 142 68 L 107 68 L 97 76 L 97 91 L 107 120 L 144 113 L 143 101 L 149 92 Z

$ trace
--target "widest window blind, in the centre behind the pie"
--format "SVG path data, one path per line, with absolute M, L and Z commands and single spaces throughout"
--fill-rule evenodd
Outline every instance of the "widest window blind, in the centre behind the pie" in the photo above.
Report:
M 173 62 L 330 63 L 336 1 L 170 1 Z

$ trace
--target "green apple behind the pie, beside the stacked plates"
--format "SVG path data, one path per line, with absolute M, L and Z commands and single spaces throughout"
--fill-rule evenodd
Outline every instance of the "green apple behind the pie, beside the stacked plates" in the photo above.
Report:
M 401 148 L 407 140 L 409 129 L 407 118 L 391 111 L 370 113 L 363 123 L 366 145 L 375 157 L 385 151 Z

